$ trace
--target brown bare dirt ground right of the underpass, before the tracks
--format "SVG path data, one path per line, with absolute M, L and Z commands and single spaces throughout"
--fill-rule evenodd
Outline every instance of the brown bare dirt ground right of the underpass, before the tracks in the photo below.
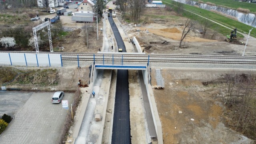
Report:
M 163 69 L 164 89 L 154 89 L 164 144 L 250 144 L 225 127 L 219 86 L 203 86 L 228 71 Z M 155 74 L 152 68 L 151 75 Z M 156 79 L 152 76 L 152 85 Z

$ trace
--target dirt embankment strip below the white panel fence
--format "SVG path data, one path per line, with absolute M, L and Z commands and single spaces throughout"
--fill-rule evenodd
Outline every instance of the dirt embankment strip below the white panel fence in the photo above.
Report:
M 22 88 L 23 91 L 55 91 L 74 92 L 77 89 L 78 80 L 82 84 L 90 81 L 89 67 L 78 69 L 76 66 L 65 68 L 34 68 L 15 67 L 14 71 L 20 74 L 10 82 L 7 88 Z M 4 83 L 0 83 L 2 85 Z

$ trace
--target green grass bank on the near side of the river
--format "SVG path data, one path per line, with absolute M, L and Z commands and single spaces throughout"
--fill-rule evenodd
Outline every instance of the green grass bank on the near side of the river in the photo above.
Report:
M 164 2 L 164 4 L 166 4 L 168 6 L 173 6 L 172 4 L 170 4 L 171 0 L 163 0 L 162 2 Z M 168 3 L 166 3 L 166 2 L 168 2 Z M 196 21 L 202 19 L 202 17 L 200 17 L 200 16 L 203 16 L 205 18 L 208 18 L 210 20 L 218 22 L 219 24 L 227 26 L 228 28 L 231 28 L 231 29 L 237 28 L 238 32 L 242 32 L 242 33 L 246 33 L 246 34 L 248 34 L 248 32 L 251 28 L 253 28 L 252 26 L 248 26 L 246 24 L 243 24 L 242 22 L 238 22 L 236 20 L 226 18 L 225 16 L 221 16 L 219 14 L 216 14 L 214 12 L 210 12 L 208 10 L 204 10 L 204 9 L 197 8 L 195 6 L 186 5 L 186 4 L 184 4 L 183 6 L 184 6 L 184 9 L 189 10 L 190 12 L 194 12 L 195 14 L 192 14 L 192 16 L 191 16 L 190 12 L 184 11 L 182 16 L 191 18 L 191 19 L 196 20 Z M 198 16 L 196 14 L 198 14 L 200 16 Z M 215 24 L 215 23 L 214 23 L 214 26 L 211 27 L 212 30 L 216 30 L 220 34 L 223 34 L 224 36 L 229 35 L 230 32 L 232 31 L 228 28 L 225 28 L 225 27 L 220 26 L 220 25 Z M 237 34 L 237 36 L 238 36 L 238 38 L 243 38 L 244 37 L 242 34 Z M 256 32 L 252 31 L 250 36 L 253 36 L 253 37 L 256 38 Z

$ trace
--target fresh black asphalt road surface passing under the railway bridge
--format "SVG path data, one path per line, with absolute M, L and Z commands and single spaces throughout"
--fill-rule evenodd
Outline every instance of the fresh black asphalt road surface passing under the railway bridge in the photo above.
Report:
M 108 17 L 112 27 L 118 48 L 126 52 L 124 42 L 112 19 L 112 14 Z M 131 144 L 130 132 L 130 108 L 128 89 L 128 70 L 118 70 L 116 81 L 116 96 L 114 108 L 114 120 L 112 129 L 112 144 Z

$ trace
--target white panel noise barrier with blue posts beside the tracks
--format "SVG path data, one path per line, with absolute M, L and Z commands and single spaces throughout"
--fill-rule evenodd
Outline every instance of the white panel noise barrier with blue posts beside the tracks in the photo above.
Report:
M 0 65 L 4 66 L 42 66 L 61 67 L 60 54 L 27 54 L 27 53 L 0 53 Z

